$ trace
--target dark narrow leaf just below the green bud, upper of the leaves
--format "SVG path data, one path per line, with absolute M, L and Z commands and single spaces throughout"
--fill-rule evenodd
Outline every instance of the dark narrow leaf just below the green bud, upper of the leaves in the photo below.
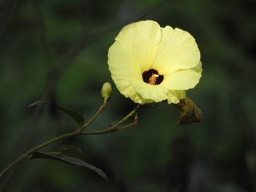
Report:
M 84 124 L 84 118 L 83 115 L 80 114 L 80 112 L 77 112 L 75 110 L 69 109 L 67 107 L 61 107 L 56 104 L 50 104 L 48 101 L 35 101 L 34 103 L 30 104 L 29 107 L 33 107 L 40 104 L 48 104 L 50 106 L 56 107 L 57 109 L 61 110 L 62 112 L 65 112 L 67 115 L 72 117 L 76 123 L 78 123 L 78 126 L 83 126 Z

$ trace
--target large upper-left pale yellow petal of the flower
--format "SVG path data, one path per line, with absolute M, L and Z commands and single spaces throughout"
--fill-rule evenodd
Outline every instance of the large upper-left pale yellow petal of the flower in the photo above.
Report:
M 108 50 L 108 65 L 114 75 L 137 77 L 154 61 L 161 39 L 161 28 L 152 20 L 129 24 L 121 29 Z

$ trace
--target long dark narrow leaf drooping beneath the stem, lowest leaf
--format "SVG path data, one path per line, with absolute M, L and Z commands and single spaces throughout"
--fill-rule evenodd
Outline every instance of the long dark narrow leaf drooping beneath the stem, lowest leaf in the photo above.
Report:
M 67 163 L 67 164 L 72 164 L 75 166 L 83 166 L 83 167 L 93 170 L 94 172 L 97 172 L 97 174 L 99 174 L 99 176 L 103 177 L 105 180 L 108 180 L 107 175 L 105 174 L 105 172 L 102 171 L 102 169 L 99 169 L 96 166 L 88 164 L 86 161 L 82 161 L 78 158 L 72 158 L 69 156 L 57 155 L 57 154 L 53 154 L 53 153 L 51 153 L 51 154 L 50 153 L 41 153 L 38 151 L 32 153 L 31 158 L 29 158 L 29 159 L 33 159 L 33 158 L 46 158 L 46 159 L 51 159 L 51 160 L 55 160 L 55 161 L 61 161 L 61 162 Z

